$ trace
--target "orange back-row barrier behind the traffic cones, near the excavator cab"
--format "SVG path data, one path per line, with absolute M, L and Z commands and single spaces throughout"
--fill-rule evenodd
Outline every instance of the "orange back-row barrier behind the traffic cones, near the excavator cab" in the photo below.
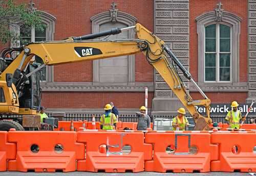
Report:
M 71 121 L 58 121 L 58 128 L 54 129 L 55 131 L 78 131 L 80 127 L 86 127 L 86 129 L 92 130 L 92 122 L 91 121 L 72 121 L 73 122 L 73 130 L 71 127 Z M 96 129 L 100 130 L 100 124 L 98 121 L 95 122 Z

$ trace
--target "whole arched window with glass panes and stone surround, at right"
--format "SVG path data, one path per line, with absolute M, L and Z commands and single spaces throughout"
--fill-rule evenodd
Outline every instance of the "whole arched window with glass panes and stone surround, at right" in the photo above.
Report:
M 216 20 L 216 12 L 200 15 L 198 33 L 198 82 L 239 82 L 240 17 L 223 12 Z

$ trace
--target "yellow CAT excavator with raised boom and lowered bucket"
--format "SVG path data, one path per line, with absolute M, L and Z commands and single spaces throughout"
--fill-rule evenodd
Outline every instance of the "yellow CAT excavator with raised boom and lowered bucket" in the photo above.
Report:
M 108 40 L 103 36 L 116 35 L 127 30 L 135 30 L 135 39 Z M 13 53 L 18 55 L 14 57 Z M 40 107 L 39 70 L 46 65 L 58 65 L 96 59 L 107 59 L 142 52 L 162 76 L 170 89 L 195 121 L 194 130 L 209 130 L 210 99 L 191 77 L 191 74 L 176 58 L 164 41 L 148 31 L 141 24 L 123 29 L 69 37 L 60 41 L 33 42 L 22 47 L 8 47 L 1 52 L 0 59 L 0 130 L 1 124 L 22 130 L 22 120 L 15 115 L 33 116 Z M 8 57 L 9 56 L 9 57 Z M 44 64 L 38 64 L 35 57 L 41 58 Z M 193 83 L 202 95 L 202 99 L 193 100 L 183 82 Z M 201 115 L 196 106 L 204 106 L 206 117 Z M 10 120 L 11 119 L 11 120 Z M 20 123 L 20 124 L 19 124 Z

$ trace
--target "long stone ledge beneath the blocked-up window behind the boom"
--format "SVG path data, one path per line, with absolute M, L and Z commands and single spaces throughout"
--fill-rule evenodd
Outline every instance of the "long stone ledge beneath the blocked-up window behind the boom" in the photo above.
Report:
M 112 85 L 112 84 L 105 84 L 105 85 L 94 85 L 91 82 L 84 82 L 84 83 L 70 83 L 70 82 L 53 82 L 53 83 L 41 83 L 41 89 L 43 92 L 52 92 L 52 91 L 72 91 L 72 92 L 143 92 L 145 91 L 145 87 L 148 87 L 148 91 L 154 91 L 154 83 L 150 82 L 135 82 L 131 85 Z

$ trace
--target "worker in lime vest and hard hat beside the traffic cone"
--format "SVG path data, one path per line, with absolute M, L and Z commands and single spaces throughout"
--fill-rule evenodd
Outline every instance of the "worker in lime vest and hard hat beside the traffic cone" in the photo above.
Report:
M 106 104 L 104 110 L 105 113 L 100 117 L 100 129 L 115 130 L 117 118 L 116 115 L 111 112 L 112 106 Z

